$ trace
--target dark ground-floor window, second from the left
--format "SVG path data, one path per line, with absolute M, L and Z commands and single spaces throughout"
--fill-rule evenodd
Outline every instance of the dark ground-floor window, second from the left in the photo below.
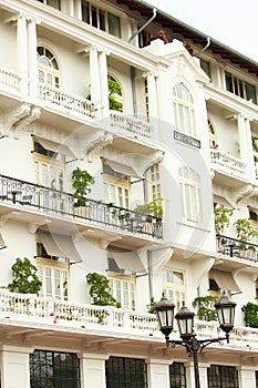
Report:
M 105 361 L 106 388 L 147 388 L 144 359 L 110 357 Z

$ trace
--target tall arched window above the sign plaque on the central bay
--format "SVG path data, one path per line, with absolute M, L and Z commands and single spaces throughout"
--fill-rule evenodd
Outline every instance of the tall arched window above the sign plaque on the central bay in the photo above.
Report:
M 183 82 L 173 89 L 173 104 L 175 125 L 185 134 L 196 137 L 194 100 Z

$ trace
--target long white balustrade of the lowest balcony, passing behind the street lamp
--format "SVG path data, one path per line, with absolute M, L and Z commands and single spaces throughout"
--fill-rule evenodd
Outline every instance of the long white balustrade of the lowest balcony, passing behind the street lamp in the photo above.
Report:
M 69 330 L 84 334 L 85 330 L 95 335 L 106 335 L 115 337 L 124 335 L 128 337 L 141 336 L 144 340 L 152 343 L 164 338 L 158 330 L 156 316 L 154 314 L 126 310 L 111 306 L 94 306 L 86 304 L 75 304 L 70 302 L 53 300 L 33 295 L 23 295 L 0 292 L 0 321 L 4 325 L 42 329 L 42 335 L 54 326 L 54 330 Z M 13 324 L 12 324 L 13 321 Z M 23 331 L 25 331 L 23 329 Z M 11 331 L 10 331 L 11 333 Z M 19 335 L 20 330 L 18 330 Z M 223 336 L 217 321 L 195 320 L 195 333 L 198 338 L 214 338 Z M 16 331 L 13 331 L 16 335 Z M 178 333 L 172 333 L 173 339 L 179 339 Z M 164 345 L 165 346 L 165 345 Z M 220 346 L 220 345 L 218 345 Z M 230 347 L 258 349 L 258 329 L 235 326 L 230 333 Z

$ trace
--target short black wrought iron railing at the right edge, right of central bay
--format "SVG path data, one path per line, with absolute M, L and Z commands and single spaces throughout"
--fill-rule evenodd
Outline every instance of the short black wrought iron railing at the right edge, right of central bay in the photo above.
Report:
M 238 257 L 258 263 L 258 245 L 228 236 L 217 236 L 217 252 L 225 256 Z

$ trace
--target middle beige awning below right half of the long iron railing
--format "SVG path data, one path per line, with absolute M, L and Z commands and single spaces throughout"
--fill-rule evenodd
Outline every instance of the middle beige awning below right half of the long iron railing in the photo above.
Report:
M 132 273 L 144 273 L 144 267 L 137 252 L 107 252 L 107 258 L 113 258 L 120 269 L 131 270 Z

